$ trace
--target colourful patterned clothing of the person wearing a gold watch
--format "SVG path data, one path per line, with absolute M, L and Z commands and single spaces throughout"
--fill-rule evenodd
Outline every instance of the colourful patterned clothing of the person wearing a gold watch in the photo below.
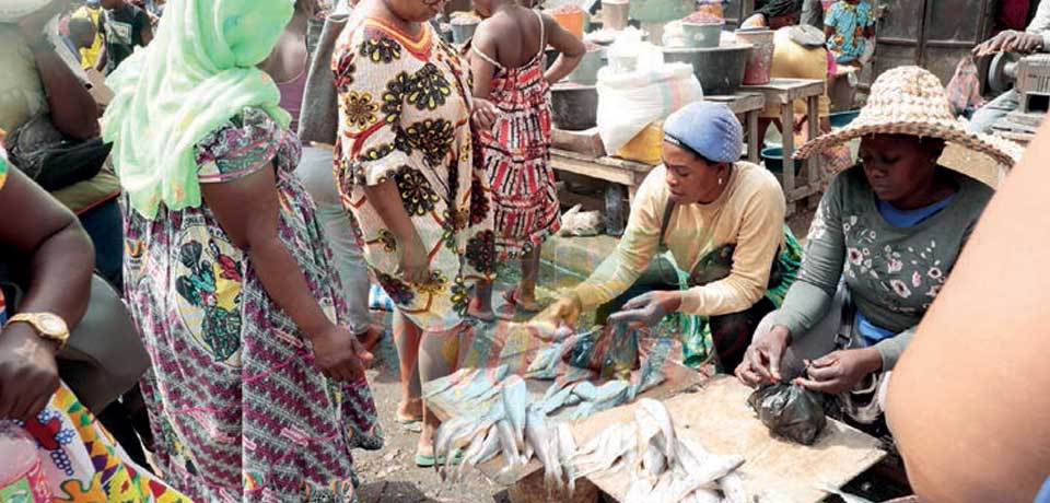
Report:
M 7 153 L 0 147 L 0 188 L 7 177 Z M 0 292 L 0 325 L 7 319 L 3 292 Z M 32 494 L 49 494 L 57 503 L 190 503 L 189 499 L 130 461 L 65 383 L 36 418 L 16 424 L 36 441 L 40 467 L 38 471 L 33 470 L 30 478 L 13 484 L 0 480 L 0 484 L 8 484 L 0 489 L 2 502 L 44 501 L 32 500 Z M 4 426 L 0 422 L 2 430 Z M 0 463 L 3 461 L 0 458 Z

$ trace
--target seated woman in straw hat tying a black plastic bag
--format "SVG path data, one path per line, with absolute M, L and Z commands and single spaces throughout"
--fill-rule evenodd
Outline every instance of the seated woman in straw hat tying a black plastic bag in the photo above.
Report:
M 941 82 L 918 67 L 879 77 L 856 120 L 798 156 L 855 138 L 861 163 L 825 194 L 798 280 L 756 330 L 736 374 L 750 385 L 797 378 L 841 394 L 845 412 L 871 423 L 880 416 L 872 400 L 880 374 L 911 340 L 992 196 L 937 164 L 945 143 L 1006 165 L 1018 152 L 967 132 Z

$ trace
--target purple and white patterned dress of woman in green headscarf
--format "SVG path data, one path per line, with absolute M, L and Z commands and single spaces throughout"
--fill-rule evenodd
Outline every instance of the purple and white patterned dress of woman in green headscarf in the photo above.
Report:
M 343 323 L 331 254 L 293 174 L 299 140 L 245 108 L 196 152 L 202 184 L 272 161 L 278 235 Z M 354 501 L 350 449 L 382 444 L 368 383 L 336 383 L 314 366 L 308 340 L 207 206 L 162 207 L 153 220 L 128 210 L 125 235 L 126 295 L 153 360 L 143 393 L 166 480 L 199 502 Z

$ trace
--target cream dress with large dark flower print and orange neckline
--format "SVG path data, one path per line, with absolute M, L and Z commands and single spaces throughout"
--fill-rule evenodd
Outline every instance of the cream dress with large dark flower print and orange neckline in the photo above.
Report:
M 336 45 L 336 179 L 364 256 L 397 308 L 424 329 L 457 327 L 468 285 L 491 280 L 490 190 L 472 162 L 470 75 L 428 23 L 412 38 L 376 19 Z M 392 180 L 430 254 L 430 281 L 398 278 L 397 241 L 364 188 Z

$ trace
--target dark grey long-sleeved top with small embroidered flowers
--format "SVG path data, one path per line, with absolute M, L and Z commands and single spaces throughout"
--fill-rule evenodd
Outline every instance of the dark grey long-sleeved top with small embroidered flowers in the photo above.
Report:
M 992 189 L 950 172 L 959 187 L 944 210 L 910 227 L 879 213 L 864 171 L 839 174 L 814 215 L 798 279 L 777 314 L 797 340 L 827 313 L 840 280 L 872 324 L 898 334 L 879 341 L 884 370 L 897 362 L 936 299 L 992 197 Z

